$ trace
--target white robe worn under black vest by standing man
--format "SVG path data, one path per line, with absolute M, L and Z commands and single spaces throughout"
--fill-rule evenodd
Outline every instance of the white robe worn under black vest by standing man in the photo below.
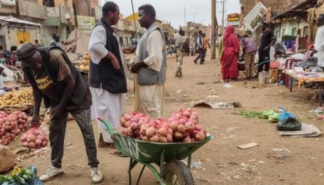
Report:
M 97 26 L 93 29 L 89 42 L 89 54 L 92 62 L 95 64 L 99 64 L 100 60 L 108 53 L 105 48 L 106 39 L 106 30 L 103 26 Z M 123 49 L 119 43 L 118 45 L 121 62 L 123 63 L 124 71 L 126 71 Z M 92 94 L 92 119 L 97 120 L 99 132 L 102 133 L 104 142 L 113 143 L 107 128 L 97 118 L 104 118 L 114 130 L 118 129 L 120 117 L 125 111 L 126 94 L 112 94 L 106 89 L 95 87 L 90 87 L 90 91 Z

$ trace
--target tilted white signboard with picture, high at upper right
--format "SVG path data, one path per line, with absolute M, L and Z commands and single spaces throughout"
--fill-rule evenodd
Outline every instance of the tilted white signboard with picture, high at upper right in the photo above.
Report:
M 266 7 L 259 2 L 250 13 L 244 18 L 244 23 L 247 29 L 255 32 L 262 23 L 263 15 Z

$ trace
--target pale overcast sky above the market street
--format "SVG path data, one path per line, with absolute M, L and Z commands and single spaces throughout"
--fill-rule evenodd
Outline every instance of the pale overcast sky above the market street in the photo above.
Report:
M 124 17 L 132 13 L 131 0 L 113 0 L 120 9 Z M 104 3 L 104 0 L 101 0 Z M 137 12 L 139 6 L 144 4 L 151 4 L 156 11 L 156 18 L 161 21 L 171 21 L 174 28 L 179 28 L 181 24 L 184 26 L 184 7 L 186 7 L 186 21 L 193 21 L 193 14 L 195 15 L 195 22 L 203 23 L 204 25 L 211 24 L 211 0 L 133 0 L 134 10 Z M 222 4 L 217 4 L 217 19 L 221 23 Z M 231 13 L 240 13 L 239 0 L 227 0 L 225 15 Z M 226 18 L 226 16 L 225 16 Z M 226 21 L 225 21 L 226 23 Z

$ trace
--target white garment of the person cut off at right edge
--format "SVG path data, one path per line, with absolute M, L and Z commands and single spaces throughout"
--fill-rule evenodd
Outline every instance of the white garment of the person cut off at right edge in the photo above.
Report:
M 314 56 L 317 57 L 317 65 L 324 66 L 324 26 L 317 28 L 314 48 L 317 50 Z

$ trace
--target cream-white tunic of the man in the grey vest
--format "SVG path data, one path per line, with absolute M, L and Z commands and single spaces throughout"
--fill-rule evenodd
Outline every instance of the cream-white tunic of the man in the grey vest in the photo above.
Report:
M 145 33 L 147 34 L 147 33 Z M 145 37 L 143 35 L 143 38 Z M 140 42 L 143 41 L 142 39 Z M 138 44 L 141 45 L 141 44 Z M 158 30 L 153 31 L 146 42 L 146 52 L 148 57 L 143 62 L 148 65 L 149 68 L 160 71 L 163 63 L 163 53 L 165 43 L 162 35 Z M 139 48 L 136 50 L 136 56 L 139 54 Z M 136 57 L 135 62 L 140 62 Z M 134 110 L 135 112 L 141 112 L 153 118 L 162 117 L 165 88 L 164 84 L 155 85 L 140 85 L 137 82 L 137 74 L 135 74 L 135 99 Z

